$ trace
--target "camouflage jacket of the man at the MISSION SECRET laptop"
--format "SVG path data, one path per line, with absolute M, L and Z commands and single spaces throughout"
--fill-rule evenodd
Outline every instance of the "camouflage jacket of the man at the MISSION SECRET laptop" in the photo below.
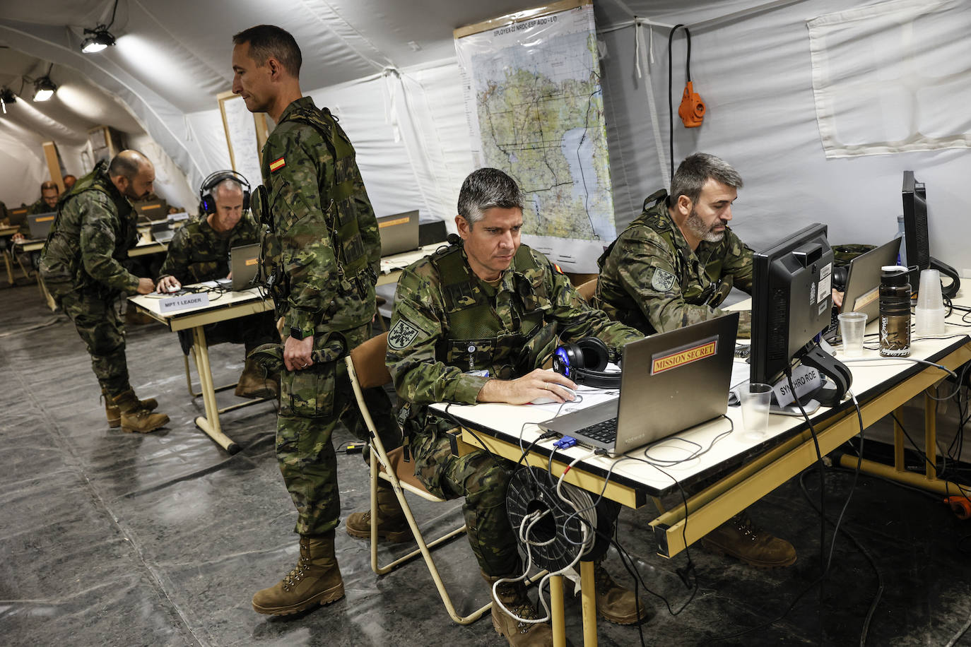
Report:
M 467 281 L 443 274 L 447 254 L 461 255 Z M 482 309 L 475 325 L 458 330 L 456 312 L 468 307 Z M 495 287 L 472 273 L 463 248 L 452 246 L 412 264 L 399 278 L 387 367 L 408 403 L 475 404 L 491 377 L 516 378 L 543 366 L 557 336 L 598 337 L 618 354 L 626 342 L 643 337 L 589 307 L 565 275 L 526 245 Z

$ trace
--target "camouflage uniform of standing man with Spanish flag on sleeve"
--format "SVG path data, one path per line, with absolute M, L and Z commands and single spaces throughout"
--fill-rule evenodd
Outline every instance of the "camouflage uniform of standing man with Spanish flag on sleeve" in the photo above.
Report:
M 324 534 L 340 516 L 331 434 L 338 419 L 357 435 L 366 429 L 343 357 L 369 337 L 377 310 L 381 259 L 378 222 L 344 130 L 310 97 L 291 103 L 263 146 L 263 186 L 254 214 L 268 227 L 263 273 L 285 332 L 314 335 L 324 361 L 281 373 L 277 459 L 297 507 L 296 532 Z M 384 390 L 365 400 L 386 449 L 401 444 Z

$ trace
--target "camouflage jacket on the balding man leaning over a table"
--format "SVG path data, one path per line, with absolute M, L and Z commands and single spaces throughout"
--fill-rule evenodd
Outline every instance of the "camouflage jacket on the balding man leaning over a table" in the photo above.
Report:
M 51 294 L 78 288 L 134 294 L 138 276 L 121 263 L 137 240 L 135 211 L 108 177 L 108 163 L 99 163 L 58 203 L 41 275 Z

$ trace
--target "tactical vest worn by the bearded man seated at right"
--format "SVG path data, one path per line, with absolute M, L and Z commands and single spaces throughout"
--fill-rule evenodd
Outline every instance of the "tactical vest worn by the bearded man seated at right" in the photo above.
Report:
M 721 275 L 721 258 L 700 258 L 696 251 L 696 260 L 690 259 L 690 249 L 687 247 L 681 232 L 676 230 L 676 225 L 668 213 L 667 191 L 664 189 L 655 191 L 645 199 L 644 210 L 641 215 L 627 225 L 627 229 L 633 227 L 647 227 L 667 243 L 668 248 L 672 250 L 675 260 L 675 278 L 686 304 L 719 307 L 728 293 L 731 292 L 734 279 L 731 275 Z M 607 257 L 610 256 L 616 243 L 617 241 L 610 243 L 604 253 L 600 255 L 600 258 L 597 259 L 597 265 L 601 272 L 603 272 L 604 263 L 606 263 Z M 695 263 L 702 265 L 704 272 L 692 272 L 692 266 Z M 695 274 L 701 276 L 700 282 L 692 280 Z M 644 316 L 640 307 L 633 304 L 631 306 L 618 311 L 619 322 L 638 330 L 653 331 L 653 326 Z

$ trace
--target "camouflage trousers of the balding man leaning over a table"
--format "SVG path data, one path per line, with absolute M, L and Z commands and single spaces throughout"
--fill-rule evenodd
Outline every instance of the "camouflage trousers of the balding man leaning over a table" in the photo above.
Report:
M 114 398 L 130 389 L 124 326 L 115 307 L 115 297 L 81 289 L 64 294 L 58 303 L 87 346 L 91 368 L 101 390 Z

